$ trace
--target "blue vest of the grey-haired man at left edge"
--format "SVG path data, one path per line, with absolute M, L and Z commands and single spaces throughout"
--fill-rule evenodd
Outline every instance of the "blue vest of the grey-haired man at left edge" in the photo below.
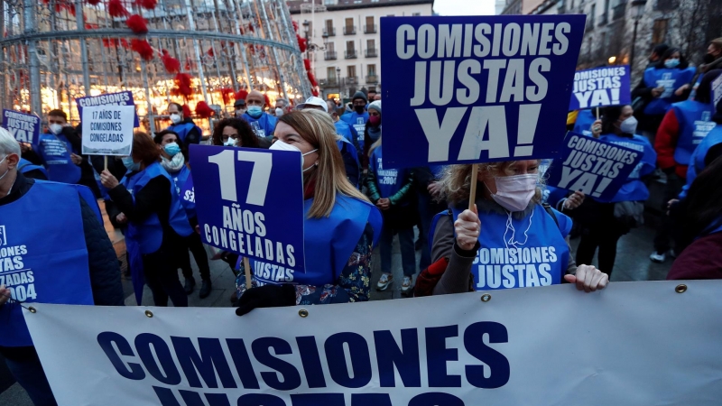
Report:
M 26 303 L 93 304 L 77 189 L 36 180 L 0 206 L 0 284 Z M 14 301 L 0 306 L 0 346 L 32 346 L 21 310 Z

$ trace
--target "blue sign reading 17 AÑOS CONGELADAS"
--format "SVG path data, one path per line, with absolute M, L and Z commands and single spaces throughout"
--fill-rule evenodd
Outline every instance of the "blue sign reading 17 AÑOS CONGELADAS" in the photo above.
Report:
M 305 272 L 300 153 L 192 144 L 190 167 L 204 243 Z

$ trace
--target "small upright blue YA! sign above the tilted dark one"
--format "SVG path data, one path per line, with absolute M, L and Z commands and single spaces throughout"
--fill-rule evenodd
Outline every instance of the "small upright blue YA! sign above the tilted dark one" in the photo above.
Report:
M 606 66 L 574 72 L 569 111 L 631 103 L 628 66 Z

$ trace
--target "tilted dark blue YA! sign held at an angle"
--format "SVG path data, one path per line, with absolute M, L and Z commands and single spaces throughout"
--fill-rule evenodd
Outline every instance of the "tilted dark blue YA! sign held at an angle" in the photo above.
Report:
M 634 171 L 643 152 L 607 143 L 582 134 L 569 133 L 561 158 L 547 170 L 547 185 L 581 191 L 597 201 L 608 202 Z

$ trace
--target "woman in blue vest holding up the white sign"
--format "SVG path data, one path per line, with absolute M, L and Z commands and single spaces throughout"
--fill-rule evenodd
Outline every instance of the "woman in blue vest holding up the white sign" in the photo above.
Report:
M 187 307 L 183 286 L 178 279 L 180 249 L 183 239 L 193 233 L 188 217 L 171 176 L 160 161 L 161 152 L 153 138 L 145 133 L 133 134 L 133 154 L 123 158 L 128 169 L 118 182 L 109 171 L 100 174 L 112 204 L 106 207 L 109 217 L 125 224 L 125 246 L 130 257 L 135 298 L 140 304 L 143 277 L 153 291 L 155 306 Z

